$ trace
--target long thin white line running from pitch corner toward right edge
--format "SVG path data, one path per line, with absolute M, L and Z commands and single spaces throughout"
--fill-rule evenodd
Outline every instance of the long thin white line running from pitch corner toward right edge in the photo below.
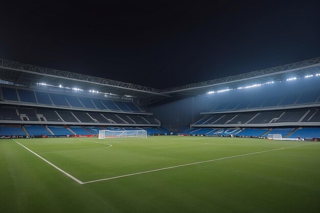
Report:
M 103 181 L 103 180 L 111 180 L 111 179 L 122 178 L 122 177 L 128 177 L 128 176 L 133 176 L 133 175 L 140 175 L 140 174 L 150 173 L 150 172 L 157 172 L 157 171 L 161 171 L 161 170 L 169 170 L 169 169 L 173 169 L 173 168 L 177 168 L 177 167 L 186 167 L 187 165 L 194 165 L 194 164 L 199 164 L 199 163 L 212 162 L 212 161 L 223 160 L 223 159 L 228 159 L 228 158 L 235 158 L 235 157 L 241 157 L 241 156 L 246 156 L 246 155 L 254 155 L 254 154 L 259 154 L 259 153 L 263 153 L 263 152 L 284 150 L 284 149 L 289 149 L 289 148 L 292 148 L 292 147 L 300 147 L 300 146 L 305 146 L 305 145 L 310 145 L 310 144 L 302 144 L 302 145 L 296 145 L 296 146 L 291 146 L 291 147 L 282 147 L 282 148 L 279 148 L 279 149 L 270 149 L 270 150 L 265 150 L 265 151 L 260 151 L 260 152 L 252 152 L 252 153 L 234 155 L 234 156 L 229 156 L 229 157 L 221 157 L 221 158 L 212 159 L 212 160 L 204 160 L 204 161 L 199 161 L 199 162 L 193 162 L 193 163 L 187 163 L 187 164 L 181 164 L 181 165 L 174 165 L 173 167 L 166 167 L 166 168 L 161 168 L 161 169 L 149 170 L 149 171 L 145 171 L 145 172 L 137 172 L 137 173 L 121 175 L 121 176 L 116 176 L 116 177 L 110 177 L 110 178 L 103 178 L 103 179 L 99 179 L 99 180 L 87 181 L 87 182 L 83 182 L 83 184 L 93 183 L 93 182 L 98 182 L 98 181 Z

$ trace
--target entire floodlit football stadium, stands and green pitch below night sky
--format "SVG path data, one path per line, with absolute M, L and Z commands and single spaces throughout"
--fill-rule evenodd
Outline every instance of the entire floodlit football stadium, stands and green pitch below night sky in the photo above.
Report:
M 0 64 L 6 212 L 319 210 L 320 58 L 162 90 Z

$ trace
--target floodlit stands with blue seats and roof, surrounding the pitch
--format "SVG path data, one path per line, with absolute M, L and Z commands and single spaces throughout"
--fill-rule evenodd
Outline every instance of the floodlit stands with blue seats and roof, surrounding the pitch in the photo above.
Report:
M 167 89 L 0 59 L 0 134 L 319 138 L 319 81 L 320 57 Z

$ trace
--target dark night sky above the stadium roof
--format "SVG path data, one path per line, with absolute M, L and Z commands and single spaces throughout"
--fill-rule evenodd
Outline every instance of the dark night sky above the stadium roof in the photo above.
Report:
M 0 58 L 179 86 L 320 56 L 318 2 L 3 1 Z

